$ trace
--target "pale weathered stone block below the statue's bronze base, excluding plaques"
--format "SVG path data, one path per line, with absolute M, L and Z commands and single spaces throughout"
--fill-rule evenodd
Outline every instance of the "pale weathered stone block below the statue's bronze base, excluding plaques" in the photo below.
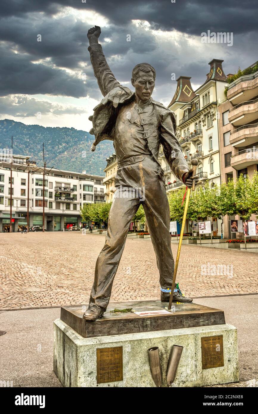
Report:
M 202 368 L 201 338 L 223 336 L 224 366 Z M 162 387 L 171 347 L 183 346 L 172 387 L 201 387 L 239 381 L 236 328 L 210 325 L 182 329 L 83 338 L 62 320 L 54 322 L 54 372 L 65 387 L 155 387 L 149 368 L 150 347 L 159 347 Z M 122 347 L 123 380 L 97 383 L 97 349 Z

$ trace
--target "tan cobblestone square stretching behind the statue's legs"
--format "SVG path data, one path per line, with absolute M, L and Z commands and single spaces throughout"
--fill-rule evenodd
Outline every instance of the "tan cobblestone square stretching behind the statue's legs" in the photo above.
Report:
M 0 308 L 87 303 L 104 241 L 80 232 L 0 233 Z M 176 258 L 176 244 L 172 251 Z M 257 253 L 182 245 L 177 281 L 186 295 L 257 293 L 257 280 Z M 157 299 L 158 281 L 151 241 L 127 240 L 111 301 Z

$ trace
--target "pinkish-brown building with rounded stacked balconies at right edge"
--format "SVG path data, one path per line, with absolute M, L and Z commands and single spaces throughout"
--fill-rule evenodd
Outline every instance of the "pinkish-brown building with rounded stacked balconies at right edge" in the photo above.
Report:
M 241 173 L 251 178 L 258 171 L 258 71 L 231 82 L 218 111 L 221 179 L 227 182 Z M 230 237 L 229 219 L 235 217 L 224 217 L 225 237 Z

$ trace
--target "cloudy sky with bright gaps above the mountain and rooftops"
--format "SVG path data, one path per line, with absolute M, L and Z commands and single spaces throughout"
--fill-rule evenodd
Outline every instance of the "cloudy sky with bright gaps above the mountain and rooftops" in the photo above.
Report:
M 257 0 L 1 0 L 0 119 L 88 131 L 101 99 L 87 51 L 95 24 L 118 81 L 130 87 L 133 67 L 148 62 L 153 98 L 168 105 L 172 73 L 196 89 L 212 58 L 226 75 L 258 60 L 257 12 Z M 233 46 L 201 43 L 208 30 L 232 32 Z

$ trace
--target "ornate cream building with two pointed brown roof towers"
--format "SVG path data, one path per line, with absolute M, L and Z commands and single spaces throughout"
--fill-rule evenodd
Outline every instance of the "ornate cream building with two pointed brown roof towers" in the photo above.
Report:
M 219 100 L 224 99 L 224 89 L 227 86 L 222 62 L 223 60 L 218 59 L 210 61 L 207 79 L 195 91 L 190 77 L 178 77 L 176 92 L 169 104 L 169 108 L 176 115 L 176 136 L 189 167 L 192 159 L 198 159 L 197 172 L 200 181 L 196 190 L 207 180 L 211 188 L 215 183 L 220 184 L 217 105 Z M 159 155 L 169 193 L 180 188 L 182 183 L 171 172 L 162 149 Z

